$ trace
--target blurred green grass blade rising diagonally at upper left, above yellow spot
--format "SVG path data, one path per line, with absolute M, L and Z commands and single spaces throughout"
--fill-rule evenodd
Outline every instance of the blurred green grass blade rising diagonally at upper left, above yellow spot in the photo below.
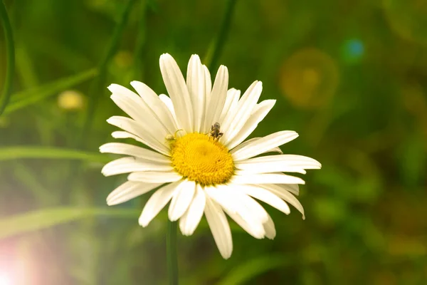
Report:
M 97 71 L 95 68 L 88 71 L 84 71 L 77 75 L 69 76 L 66 78 L 60 78 L 57 81 L 32 88 L 30 90 L 25 90 L 19 93 L 16 93 L 12 96 L 12 102 L 4 110 L 5 114 L 12 113 L 21 108 L 27 107 L 37 103 L 40 100 L 46 99 L 50 96 L 57 95 L 61 91 L 71 88 L 75 85 L 83 83 L 90 78 L 93 78 L 96 75 Z

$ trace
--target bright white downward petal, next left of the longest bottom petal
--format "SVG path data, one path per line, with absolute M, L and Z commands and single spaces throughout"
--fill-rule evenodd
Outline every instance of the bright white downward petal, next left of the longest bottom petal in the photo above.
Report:
M 206 204 L 206 196 L 200 185 L 196 185 L 196 195 L 190 204 L 189 209 L 179 219 L 179 229 L 184 236 L 191 236 L 199 225 Z

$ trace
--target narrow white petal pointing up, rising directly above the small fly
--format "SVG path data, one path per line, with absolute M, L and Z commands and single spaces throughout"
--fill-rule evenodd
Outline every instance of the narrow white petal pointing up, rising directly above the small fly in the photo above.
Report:
M 223 110 L 224 102 L 226 101 L 228 88 L 228 69 L 226 66 L 220 66 L 214 81 L 212 93 L 209 96 L 209 103 L 206 105 L 206 113 L 204 120 L 204 133 L 208 132 L 211 125 L 218 122 Z

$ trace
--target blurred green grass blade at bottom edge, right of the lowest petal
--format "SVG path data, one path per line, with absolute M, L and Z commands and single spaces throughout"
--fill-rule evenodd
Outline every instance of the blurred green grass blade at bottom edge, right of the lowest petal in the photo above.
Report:
M 271 269 L 287 266 L 290 262 L 290 257 L 277 254 L 269 254 L 264 257 L 250 259 L 231 269 L 231 271 L 218 283 L 218 285 L 246 284 L 247 281 L 253 279 L 255 276 L 270 271 Z

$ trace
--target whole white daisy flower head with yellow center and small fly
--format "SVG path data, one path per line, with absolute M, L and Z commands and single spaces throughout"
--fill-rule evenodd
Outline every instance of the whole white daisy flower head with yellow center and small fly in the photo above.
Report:
M 284 155 L 280 145 L 297 138 L 283 130 L 263 138 L 244 141 L 273 108 L 275 100 L 258 103 L 263 89 L 255 81 L 241 96 L 228 89 L 228 70 L 220 66 L 214 84 L 208 68 L 193 55 L 186 80 L 174 58 L 160 56 L 160 70 L 169 96 L 157 95 L 144 83 L 132 81 L 136 93 L 123 86 L 108 87 L 112 100 L 130 118 L 113 116 L 107 120 L 121 128 L 113 138 L 132 138 L 140 147 L 110 142 L 100 147 L 125 157 L 102 168 L 105 176 L 130 173 L 127 182 L 113 190 L 107 204 L 126 202 L 155 190 L 145 204 L 139 224 L 149 222 L 169 203 L 168 216 L 179 220 L 182 234 L 194 233 L 203 215 L 224 259 L 233 251 L 231 229 L 226 214 L 257 239 L 275 237 L 275 225 L 258 202 L 290 213 L 292 204 L 304 209 L 295 195 L 300 177 L 321 165 L 310 157 Z M 263 155 L 279 152 L 278 155 Z

